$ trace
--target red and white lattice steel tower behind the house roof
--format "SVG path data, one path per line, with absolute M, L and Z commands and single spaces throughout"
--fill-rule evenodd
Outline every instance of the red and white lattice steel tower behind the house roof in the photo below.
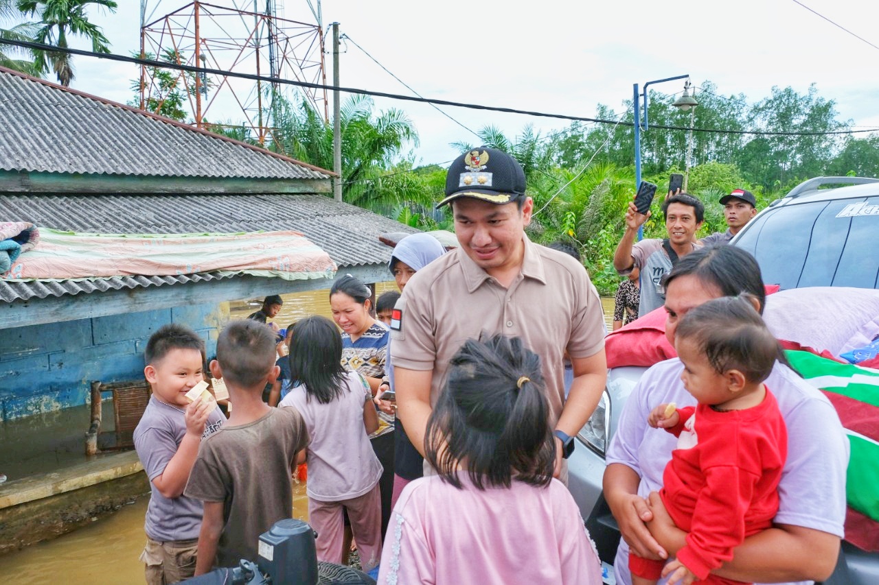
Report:
M 164 12 L 179 2 L 141 0 L 141 53 L 158 61 L 326 84 L 320 0 L 301 0 L 308 5 L 314 24 L 284 18 L 283 1 L 216 1 L 232 7 L 196 0 Z M 156 13 L 164 15 L 154 18 Z M 160 72 L 165 72 L 164 79 Z M 181 109 L 191 114 L 194 126 L 240 128 L 262 145 L 272 140 L 279 96 L 294 105 L 305 99 L 329 120 L 323 89 L 146 66 L 141 68 L 140 86 L 142 109 L 158 112 L 171 92 L 177 91 L 184 97 Z

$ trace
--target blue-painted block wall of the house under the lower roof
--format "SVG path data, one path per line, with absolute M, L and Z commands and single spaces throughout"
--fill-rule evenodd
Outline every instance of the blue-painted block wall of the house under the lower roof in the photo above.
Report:
M 213 356 L 228 318 L 223 303 L 0 330 L 0 420 L 85 404 L 94 379 L 142 379 L 143 350 L 165 323 L 195 329 Z

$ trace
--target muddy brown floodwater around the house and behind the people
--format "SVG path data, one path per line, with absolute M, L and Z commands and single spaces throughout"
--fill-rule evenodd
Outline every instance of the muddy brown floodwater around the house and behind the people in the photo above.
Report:
M 377 294 L 392 290 L 396 290 L 393 282 L 376 285 Z M 231 316 L 246 317 L 257 310 L 259 304 L 260 300 L 257 299 L 233 302 L 230 305 Z M 601 304 L 607 329 L 610 330 L 614 299 L 602 298 Z M 284 307 L 275 321 L 285 328 L 309 314 L 323 314 L 331 318 L 328 291 L 284 295 Z M 88 408 L 78 407 L 0 424 L 0 437 L 3 437 L 4 445 L 33 445 L 27 457 L 22 456 L 22 451 L 16 454 L 15 449 L 0 450 L 4 451 L 4 454 L 0 454 L 0 473 L 8 474 L 13 480 L 84 461 L 82 437 L 88 425 L 88 416 Z M 113 416 L 105 413 L 104 420 L 112 421 Z M 62 438 L 47 438 L 47 428 L 72 428 L 74 432 L 65 433 Z M 34 441 L 38 444 L 34 444 Z M 148 497 L 141 497 L 82 529 L 29 546 L 17 553 L 0 556 L 0 574 L 4 575 L 5 582 L 23 584 L 143 582 L 143 566 L 138 557 L 145 542 L 143 517 L 147 502 Z M 304 483 L 294 486 L 293 507 L 294 517 L 308 520 L 308 497 Z

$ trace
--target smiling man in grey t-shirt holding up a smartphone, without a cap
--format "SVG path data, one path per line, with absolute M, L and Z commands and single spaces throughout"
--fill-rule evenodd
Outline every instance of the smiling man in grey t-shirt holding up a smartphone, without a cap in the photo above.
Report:
M 672 270 L 678 258 L 702 247 L 694 236 L 705 220 L 705 206 L 686 193 L 670 195 L 662 204 L 668 237 L 636 242 L 638 227 L 643 226 L 652 212 L 639 213 L 635 201 L 631 201 L 626 210 L 626 230 L 614 252 L 614 268 L 621 276 L 627 276 L 634 268 L 641 270 L 638 316 L 642 317 L 663 306 L 665 288 L 662 278 Z

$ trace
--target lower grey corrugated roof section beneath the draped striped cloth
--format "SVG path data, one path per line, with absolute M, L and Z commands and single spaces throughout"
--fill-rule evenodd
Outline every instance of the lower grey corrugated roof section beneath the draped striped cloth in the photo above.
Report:
M 321 195 L 20 195 L 0 196 L 0 220 L 30 221 L 100 234 L 198 234 L 294 229 L 345 266 L 383 264 L 391 249 L 379 242 L 386 232 L 418 230 L 357 206 Z M 25 252 L 26 254 L 26 252 Z M 0 280 L 0 300 L 95 293 L 108 289 L 175 285 L 222 278 L 212 274 L 181 277 L 121 277 L 61 283 L 10 283 Z

